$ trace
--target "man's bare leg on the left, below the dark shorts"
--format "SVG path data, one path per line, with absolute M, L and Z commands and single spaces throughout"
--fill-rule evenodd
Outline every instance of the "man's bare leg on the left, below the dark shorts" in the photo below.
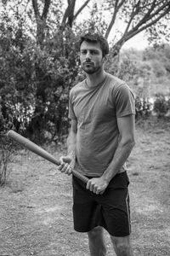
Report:
M 88 232 L 88 242 L 91 256 L 105 256 L 106 247 L 103 236 L 103 228 L 96 227 Z

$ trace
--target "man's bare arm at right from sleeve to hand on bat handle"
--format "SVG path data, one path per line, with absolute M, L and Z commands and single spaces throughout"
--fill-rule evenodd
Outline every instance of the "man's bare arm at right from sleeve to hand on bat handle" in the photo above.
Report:
M 133 114 L 117 119 L 120 142 L 114 157 L 101 177 L 95 177 L 88 181 L 87 189 L 96 194 L 103 194 L 111 179 L 119 172 L 134 146 L 134 123 Z

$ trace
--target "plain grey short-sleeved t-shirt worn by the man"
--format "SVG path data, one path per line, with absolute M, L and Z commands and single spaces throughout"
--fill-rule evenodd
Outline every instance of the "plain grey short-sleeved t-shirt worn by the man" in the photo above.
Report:
M 77 119 L 75 169 L 85 176 L 100 177 L 119 142 L 116 119 L 134 113 L 132 91 L 109 73 L 94 88 L 88 87 L 86 79 L 75 85 L 69 100 L 69 117 Z

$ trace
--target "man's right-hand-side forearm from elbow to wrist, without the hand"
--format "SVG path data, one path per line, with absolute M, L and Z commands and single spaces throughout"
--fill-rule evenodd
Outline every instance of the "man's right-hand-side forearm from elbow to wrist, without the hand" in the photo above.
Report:
M 123 164 L 127 160 L 128 156 L 131 154 L 134 146 L 134 141 L 128 141 L 126 143 L 120 142 L 116 148 L 111 164 L 107 167 L 102 177 L 105 181 L 109 183 L 113 177 L 119 172 Z

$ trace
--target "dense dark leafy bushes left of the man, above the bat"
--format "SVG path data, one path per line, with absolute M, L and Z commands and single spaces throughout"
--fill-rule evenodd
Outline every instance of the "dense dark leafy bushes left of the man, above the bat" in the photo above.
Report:
M 68 92 L 78 71 L 76 38 L 68 29 L 48 38 L 42 49 L 23 35 L 26 40 L 20 47 L 14 43 L 15 30 L 7 26 L 0 31 L 4 34 L 0 48 L 3 119 L 10 129 L 32 139 L 42 141 L 48 131 L 57 141 L 68 131 Z

